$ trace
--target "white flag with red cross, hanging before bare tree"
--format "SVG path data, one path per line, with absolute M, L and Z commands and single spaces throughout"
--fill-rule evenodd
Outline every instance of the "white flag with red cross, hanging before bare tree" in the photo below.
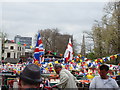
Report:
M 64 58 L 65 58 L 65 63 L 67 63 L 68 60 L 72 60 L 73 58 L 73 48 L 72 48 L 71 38 L 69 38 L 69 43 L 64 53 Z

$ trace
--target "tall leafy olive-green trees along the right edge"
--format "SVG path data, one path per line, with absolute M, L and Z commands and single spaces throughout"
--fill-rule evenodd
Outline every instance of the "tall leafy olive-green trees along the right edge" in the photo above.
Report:
M 108 3 L 104 12 L 101 21 L 95 21 L 92 28 L 96 57 L 120 53 L 120 1 Z M 92 58 L 91 53 L 88 57 Z M 107 63 L 117 62 L 118 60 L 111 60 Z

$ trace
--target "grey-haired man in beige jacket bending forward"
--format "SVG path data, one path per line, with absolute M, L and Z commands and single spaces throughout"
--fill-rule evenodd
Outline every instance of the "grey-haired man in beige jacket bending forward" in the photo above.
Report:
M 52 88 L 58 87 L 62 90 L 68 89 L 68 90 L 77 90 L 76 85 L 76 78 L 71 74 L 70 71 L 62 68 L 60 64 L 54 65 L 54 70 L 57 74 L 60 76 L 60 82 L 56 85 L 53 85 Z

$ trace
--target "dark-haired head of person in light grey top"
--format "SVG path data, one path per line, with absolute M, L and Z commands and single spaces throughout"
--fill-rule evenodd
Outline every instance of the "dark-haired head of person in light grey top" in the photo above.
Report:
M 109 71 L 109 66 L 103 64 L 99 67 L 99 70 L 100 70 L 99 74 L 100 74 L 101 78 L 102 79 L 107 79 L 108 78 L 107 74 L 108 74 L 108 71 Z

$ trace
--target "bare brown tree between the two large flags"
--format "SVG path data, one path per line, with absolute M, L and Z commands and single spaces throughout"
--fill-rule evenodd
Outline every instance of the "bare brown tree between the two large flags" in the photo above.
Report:
M 71 38 L 73 43 L 73 49 L 76 53 L 75 50 L 77 46 L 75 46 L 75 40 L 73 40 L 72 35 L 61 34 L 59 33 L 59 30 L 57 28 L 39 30 L 38 32 L 40 32 L 41 34 L 45 50 L 64 54 L 67 48 L 68 39 Z

